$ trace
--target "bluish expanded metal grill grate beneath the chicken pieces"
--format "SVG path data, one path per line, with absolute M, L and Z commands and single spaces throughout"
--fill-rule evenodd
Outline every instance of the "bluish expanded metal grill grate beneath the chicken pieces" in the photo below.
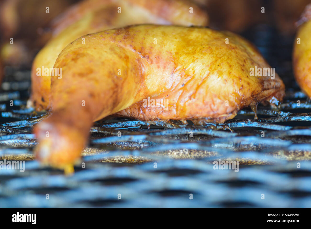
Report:
M 72 176 L 34 160 L 31 129 L 46 114 L 26 109 L 29 70 L 6 68 L 0 157 L 26 163 L 25 172 L 0 170 L 0 206 L 310 207 L 311 103 L 293 81 L 291 39 L 275 34 L 259 26 L 248 39 L 288 88 L 278 109 L 258 105 L 254 119 L 245 108 L 224 124 L 108 117 L 91 128 L 85 168 Z M 213 169 L 219 159 L 239 161 L 239 172 Z

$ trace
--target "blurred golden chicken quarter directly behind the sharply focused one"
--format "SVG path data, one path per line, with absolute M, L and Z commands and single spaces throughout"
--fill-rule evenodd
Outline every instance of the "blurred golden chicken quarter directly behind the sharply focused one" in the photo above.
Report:
M 31 100 L 37 110 L 50 108 L 51 77 L 37 76 L 37 68 L 53 68 L 63 48 L 82 35 L 143 23 L 206 26 L 207 22 L 204 11 L 184 0 L 85 0 L 55 21 L 54 37 L 37 54 L 31 72 Z

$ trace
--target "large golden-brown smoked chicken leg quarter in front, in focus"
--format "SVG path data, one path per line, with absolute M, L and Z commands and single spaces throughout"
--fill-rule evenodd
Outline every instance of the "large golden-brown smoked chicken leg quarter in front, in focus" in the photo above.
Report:
M 92 122 L 119 111 L 139 119 L 223 122 L 245 106 L 284 96 L 278 75 L 250 76 L 250 68 L 270 66 L 230 32 L 140 25 L 83 38 L 85 44 L 79 38 L 57 58 L 63 75 L 51 78 L 52 115 L 34 130 L 37 158 L 53 166 L 77 161 Z M 168 110 L 135 104 L 156 94 L 169 99 Z

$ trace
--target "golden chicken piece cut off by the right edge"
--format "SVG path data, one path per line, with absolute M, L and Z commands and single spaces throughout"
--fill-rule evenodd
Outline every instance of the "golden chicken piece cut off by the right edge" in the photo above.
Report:
M 311 4 L 301 16 L 304 22 L 296 34 L 293 51 L 293 69 L 296 82 L 309 98 L 311 98 Z

